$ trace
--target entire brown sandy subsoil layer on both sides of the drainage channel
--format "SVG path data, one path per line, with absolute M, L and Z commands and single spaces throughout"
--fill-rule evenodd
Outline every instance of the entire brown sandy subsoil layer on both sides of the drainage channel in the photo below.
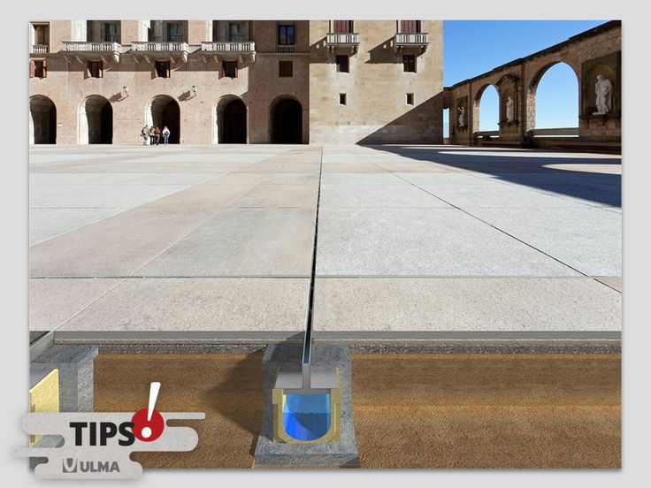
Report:
M 362 468 L 619 468 L 620 355 L 353 355 Z M 99 355 L 96 411 L 202 411 L 190 453 L 144 468 L 250 468 L 262 355 Z

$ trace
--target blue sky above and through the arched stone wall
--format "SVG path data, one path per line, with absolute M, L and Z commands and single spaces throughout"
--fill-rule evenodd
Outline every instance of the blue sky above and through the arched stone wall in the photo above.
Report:
M 443 22 L 443 86 L 563 42 L 607 20 L 446 20 Z M 497 92 L 486 88 L 479 129 L 497 130 Z M 578 80 L 568 65 L 545 73 L 536 94 L 536 126 L 578 126 Z M 448 135 L 447 111 L 444 135 Z

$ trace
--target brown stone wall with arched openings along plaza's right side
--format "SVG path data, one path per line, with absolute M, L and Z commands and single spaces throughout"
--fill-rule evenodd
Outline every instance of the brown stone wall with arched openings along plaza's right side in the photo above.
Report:
M 500 144 L 518 146 L 556 146 L 553 136 L 534 139 L 536 118 L 536 88 L 543 74 L 556 63 L 566 63 L 577 74 L 578 80 L 578 138 L 564 140 L 565 146 L 601 146 L 602 149 L 621 149 L 621 22 L 614 20 L 584 33 L 575 35 L 546 50 L 499 66 L 445 88 L 444 104 L 449 108 L 452 144 L 483 144 L 479 132 L 479 101 L 489 85 L 500 97 Z M 613 86 L 613 107 L 608 114 L 594 115 L 596 77 L 601 74 Z M 515 119 L 508 122 L 505 104 L 508 96 L 514 101 Z M 463 97 L 471 103 L 467 111 L 466 127 L 458 126 L 456 106 Z

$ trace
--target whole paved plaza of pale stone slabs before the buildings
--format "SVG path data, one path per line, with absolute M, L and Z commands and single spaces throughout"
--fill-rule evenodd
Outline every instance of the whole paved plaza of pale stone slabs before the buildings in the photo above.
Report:
M 287 338 L 304 330 L 313 267 L 316 337 L 621 331 L 621 156 L 315 145 L 29 156 L 31 331 Z

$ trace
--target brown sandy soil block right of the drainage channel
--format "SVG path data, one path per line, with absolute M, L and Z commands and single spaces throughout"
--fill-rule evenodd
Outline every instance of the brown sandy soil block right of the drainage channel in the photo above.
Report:
M 356 355 L 364 468 L 618 468 L 619 355 Z

